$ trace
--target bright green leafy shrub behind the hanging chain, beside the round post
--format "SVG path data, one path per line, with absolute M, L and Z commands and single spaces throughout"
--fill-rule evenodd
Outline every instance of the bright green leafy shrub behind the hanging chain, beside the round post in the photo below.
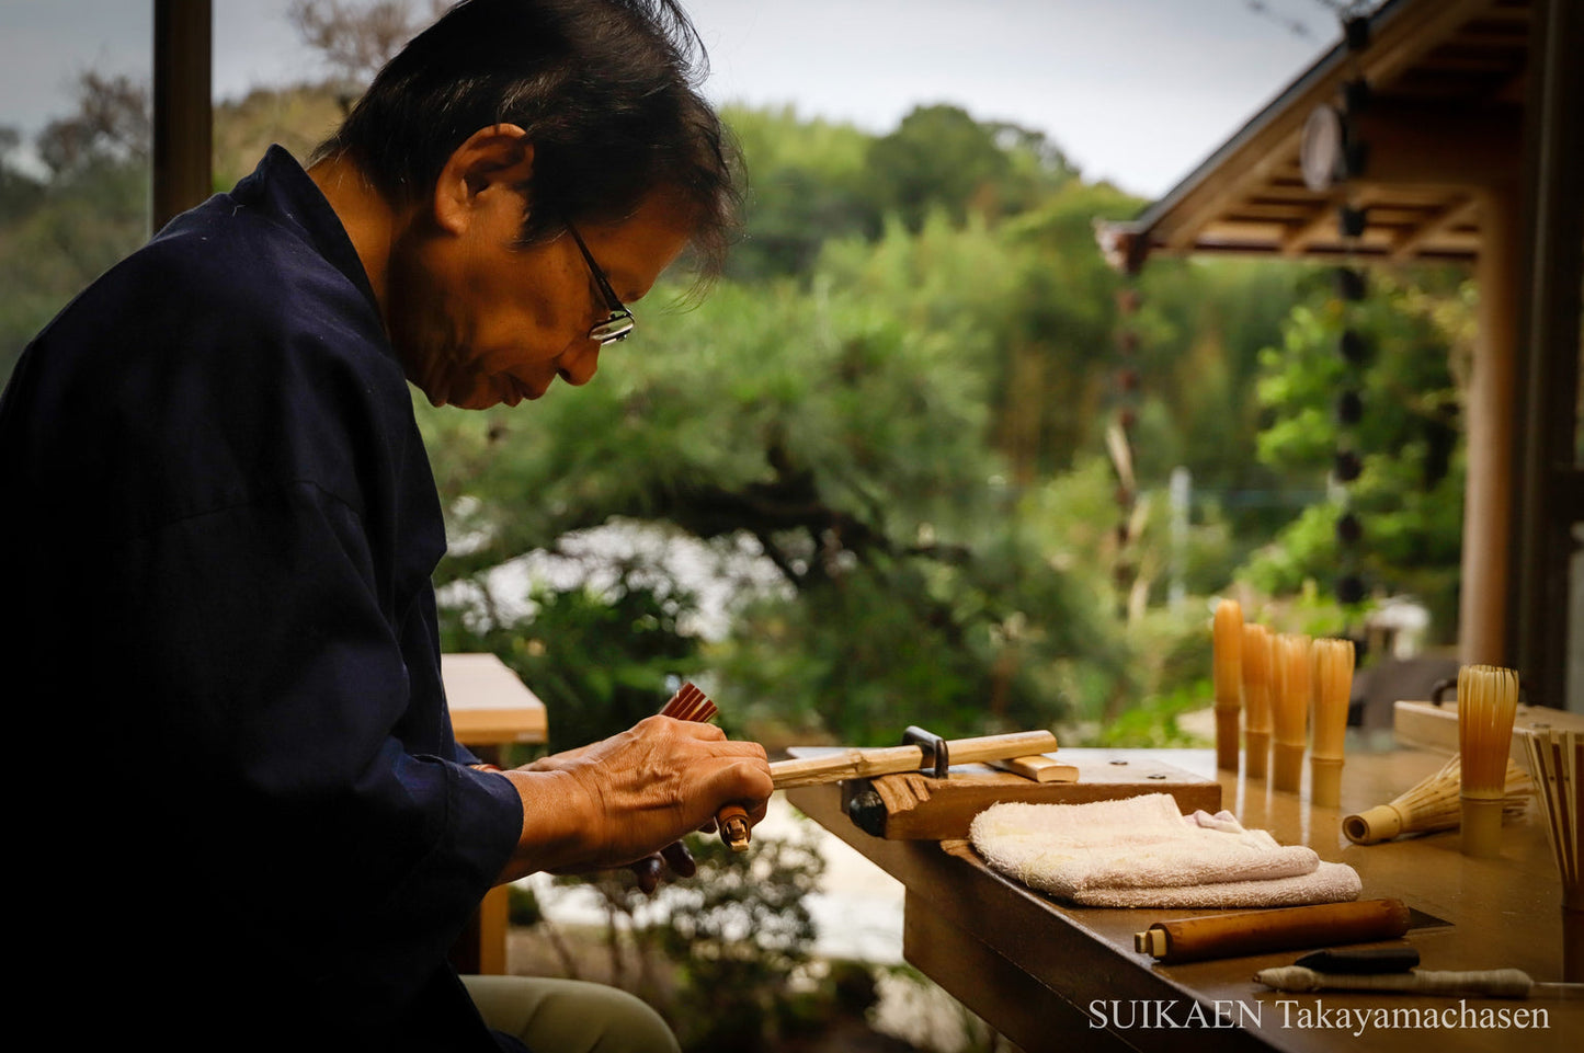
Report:
M 1264 464 L 1319 486 L 1338 448 L 1361 454 L 1362 473 L 1345 491 L 1364 527 L 1361 570 L 1378 589 L 1427 603 L 1443 637 L 1456 627 L 1462 538 L 1462 396 L 1453 366 L 1472 314 L 1468 287 L 1451 282 L 1381 272 L 1356 304 L 1312 295 L 1293 309 L 1281 345 L 1261 352 L 1258 386 L 1272 418 L 1258 443 Z M 1359 371 L 1362 420 L 1343 428 L 1334 404 L 1350 367 L 1337 345 L 1350 325 L 1370 353 Z M 1312 581 L 1329 586 L 1343 559 L 1338 513 L 1338 505 L 1305 508 L 1240 576 L 1278 595 Z

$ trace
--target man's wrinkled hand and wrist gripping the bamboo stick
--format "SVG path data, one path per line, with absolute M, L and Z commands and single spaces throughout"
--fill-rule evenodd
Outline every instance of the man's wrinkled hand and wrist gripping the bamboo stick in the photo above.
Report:
M 523 795 L 523 838 L 508 874 L 630 866 L 651 891 L 668 866 L 694 872 L 681 838 L 714 825 L 725 804 L 765 815 L 765 751 L 711 724 L 648 717 L 600 743 L 504 773 Z

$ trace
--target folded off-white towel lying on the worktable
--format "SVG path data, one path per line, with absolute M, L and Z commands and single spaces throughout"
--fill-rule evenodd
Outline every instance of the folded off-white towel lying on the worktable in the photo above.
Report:
M 1183 815 L 1167 793 L 1088 804 L 993 804 L 968 831 L 996 871 L 1093 907 L 1285 907 L 1357 899 L 1357 872 L 1245 830 Z

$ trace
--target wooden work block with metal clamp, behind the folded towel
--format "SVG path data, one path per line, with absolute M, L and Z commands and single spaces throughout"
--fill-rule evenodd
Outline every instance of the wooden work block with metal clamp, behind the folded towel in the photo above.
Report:
M 798 747 L 813 757 L 819 747 Z M 1186 814 L 1221 811 L 1221 784 L 1153 758 L 1112 763 L 1109 751 L 1058 751 L 1055 760 L 1077 766 L 1077 782 L 1034 782 L 988 765 L 954 765 L 950 777 L 923 773 L 849 779 L 841 803 L 860 830 L 876 838 L 944 841 L 966 838 L 974 815 L 1001 801 L 1087 804 L 1145 793 L 1171 793 Z

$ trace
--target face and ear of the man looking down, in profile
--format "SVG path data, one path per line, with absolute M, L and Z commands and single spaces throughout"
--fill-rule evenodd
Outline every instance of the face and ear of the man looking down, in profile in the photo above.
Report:
M 520 192 L 491 187 L 466 231 L 410 231 L 391 253 L 391 340 L 409 380 L 436 405 L 516 405 L 556 377 L 588 383 L 599 366 L 600 345 L 588 333 L 610 307 L 583 253 L 570 234 L 516 247 L 523 215 Z M 654 195 L 630 219 L 578 233 L 630 304 L 686 247 L 686 215 Z

